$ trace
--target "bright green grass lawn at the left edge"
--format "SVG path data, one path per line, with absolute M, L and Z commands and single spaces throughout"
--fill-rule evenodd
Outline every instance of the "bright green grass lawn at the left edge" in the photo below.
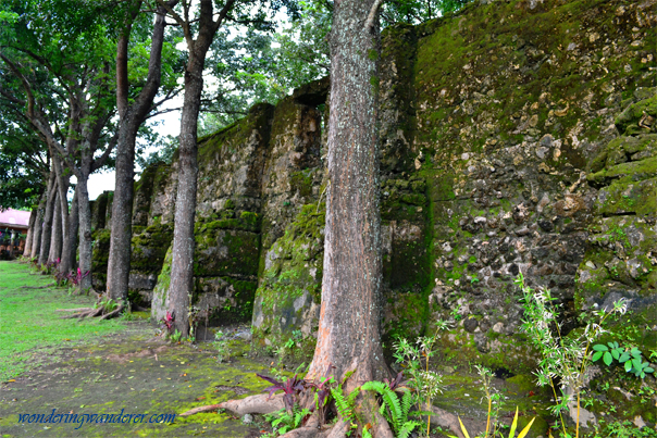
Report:
M 0 262 L 0 381 L 48 363 L 57 347 L 126 328 L 116 320 L 61 320 L 66 313 L 57 309 L 92 306 L 95 300 L 54 286 L 35 289 L 54 279 L 33 271 L 25 263 Z

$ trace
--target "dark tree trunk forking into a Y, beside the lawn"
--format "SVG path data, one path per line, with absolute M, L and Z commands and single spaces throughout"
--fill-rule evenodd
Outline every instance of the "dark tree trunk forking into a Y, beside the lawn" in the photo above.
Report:
M 176 2 L 170 2 L 173 7 Z M 108 295 L 114 300 L 126 300 L 131 273 L 131 239 L 133 235 L 133 197 L 135 176 L 135 142 L 137 130 L 146 120 L 160 87 L 162 45 L 164 41 L 164 10 L 158 8 L 153 24 L 152 45 L 147 85 L 128 107 L 127 53 L 129 26 L 116 47 L 116 103 L 121 127 L 116 143 L 116 185 L 112 203 L 112 234 L 108 262 Z

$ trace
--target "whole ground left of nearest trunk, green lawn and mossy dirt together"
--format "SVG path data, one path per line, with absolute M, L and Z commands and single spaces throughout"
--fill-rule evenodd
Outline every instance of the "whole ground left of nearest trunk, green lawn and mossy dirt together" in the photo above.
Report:
M 50 277 L 17 262 L 0 263 L 0 430 L 2 437 L 260 436 L 227 414 L 176 417 L 172 424 L 20 424 L 18 414 L 179 414 L 191 408 L 260 392 L 255 373 L 269 373 L 246 356 L 239 341 L 233 359 L 218 363 L 211 343 L 171 345 L 136 321 L 60 320 L 58 308 L 90 305 L 91 299 L 41 287 Z M 228 329 L 224 328 L 224 333 Z M 269 358 L 265 359 L 269 361 Z M 256 417 L 257 422 L 259 417 Z

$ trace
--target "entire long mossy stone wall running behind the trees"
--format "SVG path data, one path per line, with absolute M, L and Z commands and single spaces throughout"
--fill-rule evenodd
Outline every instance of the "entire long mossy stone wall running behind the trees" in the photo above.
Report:
M 656 348 L 655 5 L 482 0 L 383 33 L 388 346 L 442 318 L 445 358 L 526 371 L 522 272 L 558 298 L 566 331 L 625 297 L 636 343 Z M 215 323 L 251 320 L 256 347 L 313 342 L 327 89 L 309 84 L 199 139 L 193 302 Z M 144 173 L 134 214 L 131 287 L 158 318 L 176 167 Z

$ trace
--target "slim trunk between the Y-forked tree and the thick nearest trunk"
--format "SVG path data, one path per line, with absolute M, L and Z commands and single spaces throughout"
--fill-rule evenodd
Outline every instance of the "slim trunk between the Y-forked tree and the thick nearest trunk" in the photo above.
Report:
M 194 292 L 194 217 L 198 175 L 196 134 L 203 90 L 203 64 L 201 60 L 193 65 L 193 71 L 185 73 L 185 99 L 181 117 L 178 191 L 175 202 L 169 309 L 172 313 L 175 312 L 175 328 L 183 336 L 189 334 L 187 309 L 189 297 Z

